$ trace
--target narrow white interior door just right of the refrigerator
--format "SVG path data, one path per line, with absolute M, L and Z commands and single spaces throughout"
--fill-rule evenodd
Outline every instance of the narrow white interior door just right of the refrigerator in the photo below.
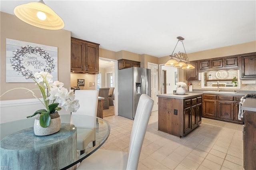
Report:
M 148 63 L 148 69 L 151 69 L 151 98 L 154 100 L 153 111 L 158 111 L 158 65 Z

